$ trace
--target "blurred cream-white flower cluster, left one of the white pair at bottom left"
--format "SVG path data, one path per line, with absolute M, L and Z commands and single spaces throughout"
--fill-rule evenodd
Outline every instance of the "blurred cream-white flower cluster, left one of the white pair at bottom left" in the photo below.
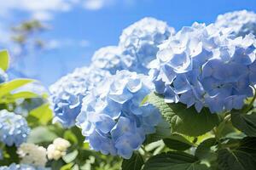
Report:
M 36 144 L 21 144 L 17 150 L 17 154 L 20 156 L 20 162 L 23 164 L 44 167 L 47 162 L 46 149 Z

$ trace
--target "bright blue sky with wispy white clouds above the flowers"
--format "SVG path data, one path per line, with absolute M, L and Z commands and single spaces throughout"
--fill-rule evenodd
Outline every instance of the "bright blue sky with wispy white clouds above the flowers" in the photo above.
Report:
M 28 5 L 20 7 L 20 0 L 3 0 L 5 6 L 0 10 L 5 11 L 0 19 L 9 26 L 38 17 L 52 27 L 43 37 L 49 44 L 55 42 L 58 48 L 27 59 L 26 65 L 26 70 L 37 74 L 45 85 L 76 67 L 90 65 L 90 57 L 97 48 L 116 45 L 121 31 L 143 17 L 164 20 L 178 31 L 195 21 L 210 24 L 218 14 L 234 10 L 256 12 L 255 0 L 33 0 L 35 4 L 32 0 L 22 1 Z M 0 35 L 6 29 L 4 23 Z

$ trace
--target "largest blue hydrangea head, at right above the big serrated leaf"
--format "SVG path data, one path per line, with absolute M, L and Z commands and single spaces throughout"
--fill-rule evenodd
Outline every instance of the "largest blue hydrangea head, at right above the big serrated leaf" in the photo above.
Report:
M 241 109 L 256 84 L 256 43 L 252 34 L 234 39 L 228 30 L 195 23 L 161 44 L 150 64 L 155 91 L 198 112 Z

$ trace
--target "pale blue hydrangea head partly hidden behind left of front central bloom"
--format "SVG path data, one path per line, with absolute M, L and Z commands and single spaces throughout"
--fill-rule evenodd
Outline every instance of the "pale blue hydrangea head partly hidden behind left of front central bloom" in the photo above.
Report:
M 53 122 L 60 122 L 63 127 L 72 127 L 79 115 L 84 96 L 109 75 L 108 71 L 83 67 L 51 85 L 49 91 L 55 112 Z

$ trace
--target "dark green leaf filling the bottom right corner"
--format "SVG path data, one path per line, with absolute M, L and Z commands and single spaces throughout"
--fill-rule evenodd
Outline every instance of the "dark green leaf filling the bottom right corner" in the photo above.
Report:
M 218 168 L 220 170 L 253 170 L 256 162 L 253 156 L 243 150 L 218 150 Z

